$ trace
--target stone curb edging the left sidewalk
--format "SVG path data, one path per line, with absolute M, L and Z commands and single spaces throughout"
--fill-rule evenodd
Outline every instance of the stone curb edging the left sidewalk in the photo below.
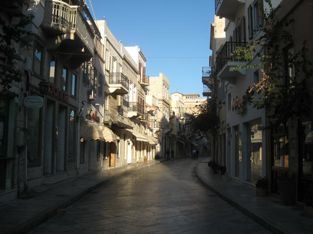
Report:
M 162 160 L 160 161 L 155 161 L 154 163 L 151 163 L 149 165 L 154 165 L 157 163 L 162 162 Z M 7 232 L 7 234 L 25 234 L 27 232 L 30 232 L 31 230 L 33 230 L 35 227 L 39 226 L 40 224 L 42 224 L 43 222 L 45 222 L 47 219 L 53 217 L 54 215 L 57 214 L 58 210 L 60 209 L 66 209 L 68 206 L 70 206 L 71 204 L 73 204 L 74 202 L 78 201 L 80 198 L 82 198 L 83 196 L 89 194 L 91 191 L 109 183 L 110 181 L 117 179 L 121 176 L 124 176 L 126 174 L 129 174 L 131 172 L 137 171 L 139 169 L 142 169 L 144 167 L 147 167 L 148 164 L 143 165 L 142 167 L 138 167 L 135 169 L 130 169 L 124 172 L 121 172 L 119 174 L 116 174 L 114 176 L 111 176 L 105 180 L 102 180 L 100 182 L 96 182 L 94 185 L 90 186 L 89 188 L 86 188 L 80 192 L 78 192 L 75 195 L 72 195 L 70 197 L 68 197 L 68 199 L 62 203 L 56 204 L 52 207 L 50 207 L 49 209 L 45 210 L 42 213 L 39 213 L 38 215 L 35 215 L 34 217 L 28 219 L 26 222 L 20 224 L 19 226 L 15 227 L 14 229 L 11 229 L 9 232 Z

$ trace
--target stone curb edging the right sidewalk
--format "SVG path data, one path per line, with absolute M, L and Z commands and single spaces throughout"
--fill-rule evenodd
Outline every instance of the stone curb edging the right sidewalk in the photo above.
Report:
M 278 229 L 277 227 L 273 226 L 272 224 L 270 224 L 267 220 L 259 217 L 258 215 L 253 214 L 252 212 L 250 212 L 249 210 L 247 210 L 245 207 L 243 207 L 242 205 L 238 204 L 237 202 L 233 201 L 232 199 L 230 199 L 229 197 L 225 196 L 224 194 L 222 194 L 221 192 L 219 192 L 218 190 L 214 189 L 212 186 L 210 186 L 209 184 L 204 182 L 204 179 L 199 175 L 198 172 L 198 166 L 196 168 L 196 176 L 198 178 L 198 180 L 201 182 L 201 184 L 203 184 L 206 188 L 208 188 L 209 190 L 211 190 L 214 194 L 218 195 L 221 199 L 223 199 L 225 202 L 227 202 L 229 205 L 233 206 L 234 208 L 236 208 L 237 210 L 239 210 L 240 212 L 242 212 L 243 214 L 247 215 L 248 217 L 250 217 L 251 219 L 253 219 L 254 221 L 256 221 L 257 223 L 259 223 L 260 225 L 262 225 L 263 227 L 265 227 L 266 229 L 268 229 L 270 232 L 274 233 L 274 234 L 285 234 L 283 231 L 281 231 L 280 229 Z

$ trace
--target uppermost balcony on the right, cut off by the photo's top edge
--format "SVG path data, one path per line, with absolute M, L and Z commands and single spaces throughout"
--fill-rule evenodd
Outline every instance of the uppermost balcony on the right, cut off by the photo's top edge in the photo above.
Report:
M 246 0 L 215 0 L 215 15 L 234 21 L 236 12 L 245 3 Z

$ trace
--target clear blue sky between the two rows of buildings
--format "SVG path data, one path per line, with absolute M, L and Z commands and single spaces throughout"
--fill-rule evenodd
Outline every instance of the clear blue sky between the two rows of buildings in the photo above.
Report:
M 89 0 L 86 0 L 92 14 Z M 138 45 L 147 76 L 164 73 L 170 93 L 200 94 L 202 66 L 208 66 L 213 0 L 91 0 L 97 20 L 124 46 Z M 93 14 L 92 14 L 93 15 Z

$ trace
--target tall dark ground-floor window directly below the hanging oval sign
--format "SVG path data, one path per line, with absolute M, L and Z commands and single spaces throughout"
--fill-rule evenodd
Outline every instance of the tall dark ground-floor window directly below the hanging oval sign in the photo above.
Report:
M 40 123 L 41 123 L 42 108 L 27 109 L 27 129 L 28 129 L 28 144 L 27 144 L 27 162 L 29 164 L 40 165 Z M 35 166 L 34 165 L 34 166 Z

